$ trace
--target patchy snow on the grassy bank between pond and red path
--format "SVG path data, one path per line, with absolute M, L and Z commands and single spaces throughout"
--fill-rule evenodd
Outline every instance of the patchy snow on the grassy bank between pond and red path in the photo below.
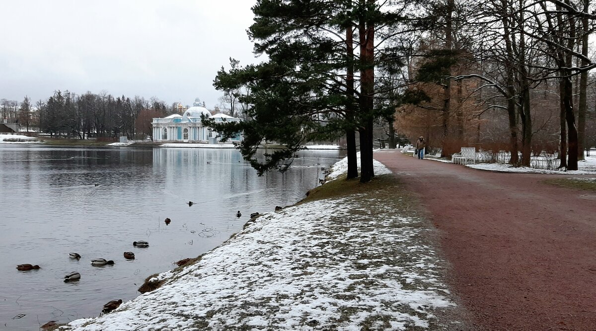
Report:
M 262 215 L 194 265 L 159 274 L 159 289 L 61 329 L 428 329 L 455 305 L 430 229 L 385 190 L 391 199 L 375 191 Z

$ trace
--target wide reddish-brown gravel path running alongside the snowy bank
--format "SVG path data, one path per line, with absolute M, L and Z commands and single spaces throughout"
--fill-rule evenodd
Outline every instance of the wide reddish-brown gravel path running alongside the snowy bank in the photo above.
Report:
M 541 182 L 561 175 L 481 171 L 399 150 L 374 158 L 420 196 L 452 289 L 480 330 L 596 330 L 596 193 Z

